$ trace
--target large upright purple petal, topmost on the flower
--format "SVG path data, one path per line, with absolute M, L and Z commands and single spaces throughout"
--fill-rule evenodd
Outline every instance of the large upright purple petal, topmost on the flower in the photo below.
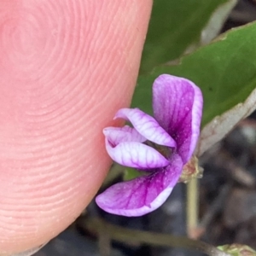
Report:
M 188 79 L 160 75 L 153 85 L 154 118 L 174 138 L 177 153 L 186 163 L 200 133 L 201 90 Z

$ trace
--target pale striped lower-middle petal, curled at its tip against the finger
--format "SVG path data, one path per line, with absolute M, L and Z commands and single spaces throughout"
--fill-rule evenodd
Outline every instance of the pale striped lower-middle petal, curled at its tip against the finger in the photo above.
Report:
M 143 143 L 128 142 L 113 146 L 107 137 L 105 143 L 109 156 L 122 166 L 146 170 L 169 164 L 162 154 Z

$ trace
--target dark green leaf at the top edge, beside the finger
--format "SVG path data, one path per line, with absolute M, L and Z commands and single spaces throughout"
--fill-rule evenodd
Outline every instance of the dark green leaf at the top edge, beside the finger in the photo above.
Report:
M 229 0 L 154 1 L 143 49 L 141 73 L 177 59 L 189 45 L 197 43 L 212 14 Z M 216 23 L 216 22 L 215 22 Z

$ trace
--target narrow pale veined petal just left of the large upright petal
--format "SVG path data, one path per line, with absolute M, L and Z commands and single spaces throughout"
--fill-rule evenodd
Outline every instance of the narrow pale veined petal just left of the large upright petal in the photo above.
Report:
M 159 145 L 175 148 L 176 143 L 173 138 L 157 123 L 157 121 L 147 113 L 138 108 L 121 108 L 116 113 L 115 118 L 125 119 L 148 141 Z

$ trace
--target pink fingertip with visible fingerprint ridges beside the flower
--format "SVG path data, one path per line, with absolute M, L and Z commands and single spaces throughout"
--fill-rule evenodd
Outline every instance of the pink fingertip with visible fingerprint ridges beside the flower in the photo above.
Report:
M 90 203 L 128 107 L 151 0 L 0 0 L 0 255 L 37 247 Z

